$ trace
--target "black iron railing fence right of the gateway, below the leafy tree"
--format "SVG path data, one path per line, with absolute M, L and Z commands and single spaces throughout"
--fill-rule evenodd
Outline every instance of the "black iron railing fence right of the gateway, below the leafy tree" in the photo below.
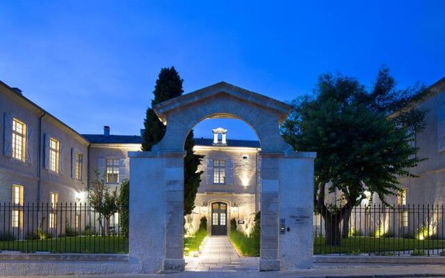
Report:
M 357 206 L 314 213 L 314 254 L 445 256 L 443 205 Z

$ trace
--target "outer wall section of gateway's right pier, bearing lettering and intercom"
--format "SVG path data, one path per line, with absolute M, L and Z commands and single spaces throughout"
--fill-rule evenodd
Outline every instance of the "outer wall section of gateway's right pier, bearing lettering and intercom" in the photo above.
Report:
M 286 270 L 312 265 L 315 156 L 293 152 L 280 161 L 280 260 Z

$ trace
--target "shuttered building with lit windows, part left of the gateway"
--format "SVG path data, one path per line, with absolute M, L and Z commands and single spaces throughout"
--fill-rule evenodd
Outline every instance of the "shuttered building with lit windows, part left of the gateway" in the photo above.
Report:
M 85 204 L 94 170 L 101 177 L 105 174 L 108 184 L 118 186 L 129 177 L 127 152 L 140 150 L 140 136 L 113 136 L 109 127 L 104 134 L 81 135 L 24 97 L 21 90 L 2 82 L 0 113 L 0 205 L 10 213 L 1 221 L 2 231 L 9 226 L 11 233 L 20 234 L 17 227 L 23 236 L 29 222 L 33 227 L 43 222 L 55 226 L 56 220 L 54 224 L 44 221 L 51 218 L 47 207 Z M 40 212 L 33 219 L 23 212 L 24 206 L 31 207 L 26 211 Z M 76 226 L 75 219 L 71 227 Z M 65 225 L 60 225 L 59 231 L 64 230 Z

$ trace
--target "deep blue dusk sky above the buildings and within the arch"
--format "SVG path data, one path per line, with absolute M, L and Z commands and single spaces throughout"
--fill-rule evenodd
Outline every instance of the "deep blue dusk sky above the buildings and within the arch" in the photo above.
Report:
M 161 67 L 185 92 L 227 81 L 289 101 L 317 76 L 401 87 L 445 75 L 445 1 L 2 1 L 0 80 L 79 133 L 137 134 Z M 195 136 L 237 120 L 207 120 Z

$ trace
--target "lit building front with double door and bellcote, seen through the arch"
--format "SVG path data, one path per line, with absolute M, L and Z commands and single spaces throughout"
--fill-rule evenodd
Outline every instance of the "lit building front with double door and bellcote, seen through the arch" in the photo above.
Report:
M 220 138 L 218 138 L 218 133 Z M 213 139 L 195 138 L 194 151 L 204 155 L 203 171 L 195 199 L 195 209 L 186 216 L 186 229 L 195 231 L 207 218 L 211 235 L 227 235 L 230 220 L 236 229 L 250 234 L 259 211 L 261 150 L 259 141 L 231 140 L 227 130 L 213 129 Z

